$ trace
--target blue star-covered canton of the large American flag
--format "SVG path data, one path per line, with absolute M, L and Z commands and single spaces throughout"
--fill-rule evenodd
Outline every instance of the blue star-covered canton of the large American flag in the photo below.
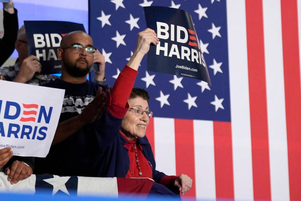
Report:
M 134 86 L 150 94 L 154 117 L 230 121 L 229 64 L 224 1 L 93 0 L 89 22 L 94 45 L 106 60 L 106 84 L 113 86 L 133 55 L 137 34 L 146 28 L 144 6 L 166 6 L 188 11 L 195 24 L 212 85 L 187 77 L 146 70 L 147 55 Z M 219 13 L 219 17 L 216 17 Z M 174 59 L 177 59 L 176 57 Z M 175 66 L 165 66 L 174 68 Z M 187 65 L 187 67 L 189 67 Z M 217 98 L 218 97 L 218 98 Z M 216 99 L 217 98 L 217 99 Z

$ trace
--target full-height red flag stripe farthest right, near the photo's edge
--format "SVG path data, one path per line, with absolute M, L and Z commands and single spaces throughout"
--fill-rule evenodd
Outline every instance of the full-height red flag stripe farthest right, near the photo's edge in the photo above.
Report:
M 301 92 L 297 1 L 281 1 L 290 199 L 301 200 Z

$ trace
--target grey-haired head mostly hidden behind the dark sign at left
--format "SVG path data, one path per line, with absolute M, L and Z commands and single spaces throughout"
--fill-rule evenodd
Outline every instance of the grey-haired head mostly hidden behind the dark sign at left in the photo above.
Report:
M 17 41 L 14 46 L 19 53 L 19 61 L 23 62 L 28 57 L 27 36 L 24 25 L 18 30 Z

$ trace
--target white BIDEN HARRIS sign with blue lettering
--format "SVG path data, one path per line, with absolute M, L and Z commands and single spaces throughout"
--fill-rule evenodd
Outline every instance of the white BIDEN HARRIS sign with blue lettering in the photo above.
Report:
M 46 157 L 62 110 L 65 90 L 0 80 L 0 149 Z

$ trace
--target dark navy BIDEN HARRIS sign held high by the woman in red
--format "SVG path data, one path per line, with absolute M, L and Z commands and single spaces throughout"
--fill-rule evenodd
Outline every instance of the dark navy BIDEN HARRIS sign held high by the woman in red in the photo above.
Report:
M 147 70 L 203 80 L 211 85 L 190 14 L 181 9 L 144 7 L 146 26 L 155 30 L 159 44 L 150 46 Z

